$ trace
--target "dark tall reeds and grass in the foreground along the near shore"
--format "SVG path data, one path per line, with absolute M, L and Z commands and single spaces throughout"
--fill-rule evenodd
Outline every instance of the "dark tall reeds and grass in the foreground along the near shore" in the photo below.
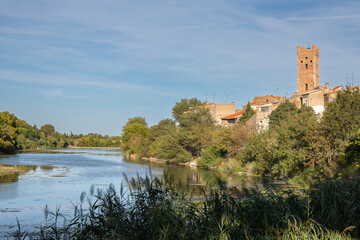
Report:
M 194 201 L 165 174 L 164 179 L 126 179 L 125 191 L 114 185 L 92 187 L 63 225 L 59 211 L 37 232 L 18 239 L 356 239 L 360 238 L 360 180 L 328 181 L 308 193 L 293 190 L 236 193 L 223 184 L 204 189 Z M 183 189 L 183 188 L 181 188 Z M 190 195 L 191 196 L 191 195 Z M 84 207 L 89 205 L 88 207 Z

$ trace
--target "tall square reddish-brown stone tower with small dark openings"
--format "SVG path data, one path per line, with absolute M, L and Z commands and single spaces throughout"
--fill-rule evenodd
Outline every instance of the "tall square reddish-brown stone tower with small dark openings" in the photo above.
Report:
M 298 46 L 298 89 L 297 93 L 305 93 L 319 87 L 319 47 Z

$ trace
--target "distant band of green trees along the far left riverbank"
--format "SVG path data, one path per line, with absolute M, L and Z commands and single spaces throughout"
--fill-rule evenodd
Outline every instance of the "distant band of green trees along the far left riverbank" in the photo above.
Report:
M 120 137 L 99 134 L 61 134 L 51 124 L 40 129 L 18 119 L 9 112 L 0 112 L 0 154 L 14 153 L 26 149 L 55 149 L 77 147 L 119 147 Z

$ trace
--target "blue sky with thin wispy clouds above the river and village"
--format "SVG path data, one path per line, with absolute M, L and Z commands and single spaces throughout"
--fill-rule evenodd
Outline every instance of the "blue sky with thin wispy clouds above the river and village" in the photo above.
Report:
M 0 111 L 121 135 L 183 98 L 291 96 L 298 45 L 319 46 L 320 85 L 358 85 L 359 29 L 357 0 L 0 0 Z

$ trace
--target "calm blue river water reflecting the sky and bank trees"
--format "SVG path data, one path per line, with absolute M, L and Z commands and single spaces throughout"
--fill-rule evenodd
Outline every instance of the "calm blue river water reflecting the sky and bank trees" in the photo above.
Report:
M 0 156 L 0 164 L 28 165 L 29 170 L 12 179 L 0 179 L 0 238 L 14 231 L 16 219 L 25 228 L 33 228 L 44 221 L 44 207 L 71 218 L 73 204 L 80 201 L 82 192 L 92 185 L 106 188 L 114 184 L 120 189 L 124 175 L 145 176 L 151 169 L 155 176 L 166 170 L 175 181 L 192 186 L 211 185 L 217 179 L 239 188 L 263 189 L 264 182 L 238 175 L 225 176 L 217 172 L 185 166 L 166 165 L 146 161 L 130 161 L 113 149 L 64 149 Z M 125 184 L 126 187 L 126 184 Z

